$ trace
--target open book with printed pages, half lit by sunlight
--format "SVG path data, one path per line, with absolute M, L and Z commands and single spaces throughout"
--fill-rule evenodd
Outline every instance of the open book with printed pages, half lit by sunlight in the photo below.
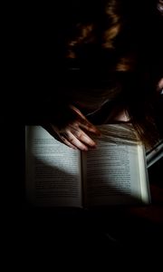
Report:
M 25 191 L 34 206 L 93 208 L 148 204 L 149 179 L 144 147 L 136 141 L 110 141 L 126 128 L 99 126 L 97 148 L 76 151 L 41 126 L 25 127 Z

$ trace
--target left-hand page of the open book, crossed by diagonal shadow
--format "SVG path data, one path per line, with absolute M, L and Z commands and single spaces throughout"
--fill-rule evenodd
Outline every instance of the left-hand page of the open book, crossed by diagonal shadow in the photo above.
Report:
M 34 206 L 81 207 L 81 154 L 41 126 L 25 127 L 25 188 Z

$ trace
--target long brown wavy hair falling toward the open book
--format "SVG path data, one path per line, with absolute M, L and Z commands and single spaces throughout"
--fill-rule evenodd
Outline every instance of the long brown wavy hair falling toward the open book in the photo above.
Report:
M 117 101 L 147 145 L 159 137 L 155 89 L 163 47 L 157 3 L 68 1 L 59 39 L 66 99 L 91 108 L 105 100 Z

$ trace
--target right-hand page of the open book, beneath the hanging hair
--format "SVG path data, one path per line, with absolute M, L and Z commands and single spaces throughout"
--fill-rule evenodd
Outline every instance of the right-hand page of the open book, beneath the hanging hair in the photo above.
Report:
M 114 130 L 111 125 L 104 127 Z M 124 128 L 116 125 L 117 129 Z M 149 179 L 143 145 L 135 141 L 111 142 L 105 133 L 97 143 L 96 150 L 82 156 L 86 206 L 148 204 Z

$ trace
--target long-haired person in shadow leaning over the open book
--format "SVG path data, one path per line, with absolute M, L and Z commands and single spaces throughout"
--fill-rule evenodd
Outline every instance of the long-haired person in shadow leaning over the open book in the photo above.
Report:
M 59 141 L 88 151 L 96 146 L 91 133 L 101 134 L 96 124 L 112 121 L 129 121 L 146 146 L 158 141 L 161 5 L 82 0 L 64 6 L 57 39 L 60 87 L 49 95 L 50 123 L 45 118 L 43 124 Z

